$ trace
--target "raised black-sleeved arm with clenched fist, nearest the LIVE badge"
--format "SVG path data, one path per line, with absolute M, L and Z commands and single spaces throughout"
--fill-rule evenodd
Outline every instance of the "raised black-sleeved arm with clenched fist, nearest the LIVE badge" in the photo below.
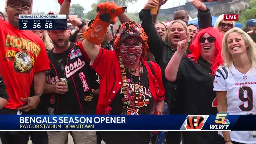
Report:
M 200 0 L 192 0 L 191 4 L 197 8 L 197 18 L 199 29 L 212 27 L 212 18 L 210 9 Z

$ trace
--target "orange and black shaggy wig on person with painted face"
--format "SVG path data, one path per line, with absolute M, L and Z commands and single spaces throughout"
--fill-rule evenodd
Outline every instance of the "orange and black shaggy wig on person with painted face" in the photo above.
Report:
M 147 54 L 149 51 L 148 46 L 148 37 L 144 32 L 143 28 L 136 22 L 125 22 L 123 23 L 119 29 L 116 31 L 115 41 L 114 41 L 114 51 L 116 51 L 117 55 L 120 55 L 120 45 L 121 45 L 121 37 L 125 33 L 135 33 L 136 36 L 139 36 L 142 39 L 142 57 L 140 60 L 147 60 Z M 133 35 L 131 35 L 133 36 Z

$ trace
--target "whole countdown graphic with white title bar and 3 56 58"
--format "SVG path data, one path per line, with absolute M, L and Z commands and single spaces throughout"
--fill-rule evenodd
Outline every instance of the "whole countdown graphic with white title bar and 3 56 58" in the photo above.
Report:
M 65 30 L 66 15 L 20 15 L 20 30 Z

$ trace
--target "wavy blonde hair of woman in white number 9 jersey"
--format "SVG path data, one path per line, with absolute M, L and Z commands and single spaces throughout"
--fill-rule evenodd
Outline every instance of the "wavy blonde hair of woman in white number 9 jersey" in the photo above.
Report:
M 248 57 L 252 62 L 252 68 L 256 69 L 256 43 L 254 43 L 253 39 L 246 32 L 244 32 L 241 28 L 238 28 L 238 27 L 230 29 L 224 35 L 224 38 L 222 41 L 222 51 L 221 51 L 224 64 L 228 67 L 231 67 L 233 63 L 231 54 L 228 51 L 227 38 L 230 33 L 234 33 L 234 32 L 240 33 L 245 41 L 245 44 L 248 45 L 248 47 L 246 48 L 246 51 L 247 51 Z

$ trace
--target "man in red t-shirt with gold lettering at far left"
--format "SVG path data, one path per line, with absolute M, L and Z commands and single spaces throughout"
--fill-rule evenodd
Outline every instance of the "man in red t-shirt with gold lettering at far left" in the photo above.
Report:
M 19 15 L 30 14 L 29 0 L 8 0 L 8 21 L 0 19 L 0 73 L 6 84 L 9 100 L 0 114 L 21 114 L 35 109 L 40 102 L 50 69 L 42 39 L 29 30 L 19 30 Z M 29 97 L 34 78 L 35 96 Z M 25 132 L 1 132 L 2 143 L 27 143 Z

